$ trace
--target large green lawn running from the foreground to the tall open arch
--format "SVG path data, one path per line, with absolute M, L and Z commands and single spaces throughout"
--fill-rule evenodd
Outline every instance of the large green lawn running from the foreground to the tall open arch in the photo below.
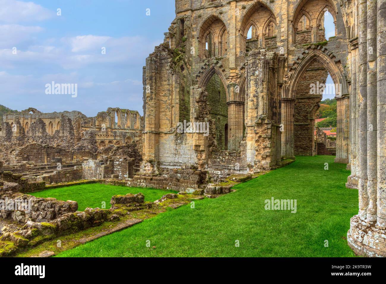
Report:
M 358 212 L 358 191 L 345 188 L 349 171 L 333 161 L 334 156 L 296 157 L 287 167 L 238 184 L 233 193 L 198 200 L 194 209 L 169 210 L 58 256 L 354 256 L 345 238 Z M 264 210 L 272 196 L 296 199 L 297 212 Z

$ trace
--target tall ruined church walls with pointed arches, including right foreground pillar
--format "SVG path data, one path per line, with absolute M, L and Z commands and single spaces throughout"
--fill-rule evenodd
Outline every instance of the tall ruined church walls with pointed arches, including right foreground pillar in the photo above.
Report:
M 176 1 L 176 19 L 143 70 L 141 172 L 190 165 L 221 178 L 318 154 L 314 120 L 329 74 L 335 162 L 347 164 L 347 187 L 359 189 L 348 242 L 357 254 L 385 256 L 385 10 L 379 0 Z M 183 60 L 172 52 L 180 47 Z M 208 131 L 178 133 L 184 120 Z

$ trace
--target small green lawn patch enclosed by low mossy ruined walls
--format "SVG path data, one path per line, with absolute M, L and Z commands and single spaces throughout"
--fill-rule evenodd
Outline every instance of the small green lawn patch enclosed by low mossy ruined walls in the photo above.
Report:
M 106 209 L 111 207 L 110 199 L 115 194 L 143 193 L 145 201 L 155 201 L 168 193 L 178 193 L 175 190 L 163 190 L 152 188 L 129 188 L 126 186 L 113 186 L 108 184 L 90 183 L 68 186 L 63 188 L 53 188 L 44 191 L 29 193 L 36 197 L 53 197 L 59 200 L 74 200 L 78 202 L 78 211 L 83 211 L 86 207 L 102 208 L 102 202 L 106 203 Z

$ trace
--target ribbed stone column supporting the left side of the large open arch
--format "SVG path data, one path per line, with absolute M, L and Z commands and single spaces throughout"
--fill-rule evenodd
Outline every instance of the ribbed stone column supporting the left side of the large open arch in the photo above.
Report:
M 281 124 L 283 127 L 283 132 L 281 133 L 281 156 L 290 159 L 295 159 L 293 133 L 294 109 L 294 98 L 281 98 Z

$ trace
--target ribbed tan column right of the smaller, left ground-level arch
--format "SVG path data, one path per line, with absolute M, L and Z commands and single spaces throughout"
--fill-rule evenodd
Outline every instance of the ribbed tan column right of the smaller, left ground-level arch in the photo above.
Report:
M 244 134 L 244 101 L 229 101 L 228 150 L 237 151 Z

